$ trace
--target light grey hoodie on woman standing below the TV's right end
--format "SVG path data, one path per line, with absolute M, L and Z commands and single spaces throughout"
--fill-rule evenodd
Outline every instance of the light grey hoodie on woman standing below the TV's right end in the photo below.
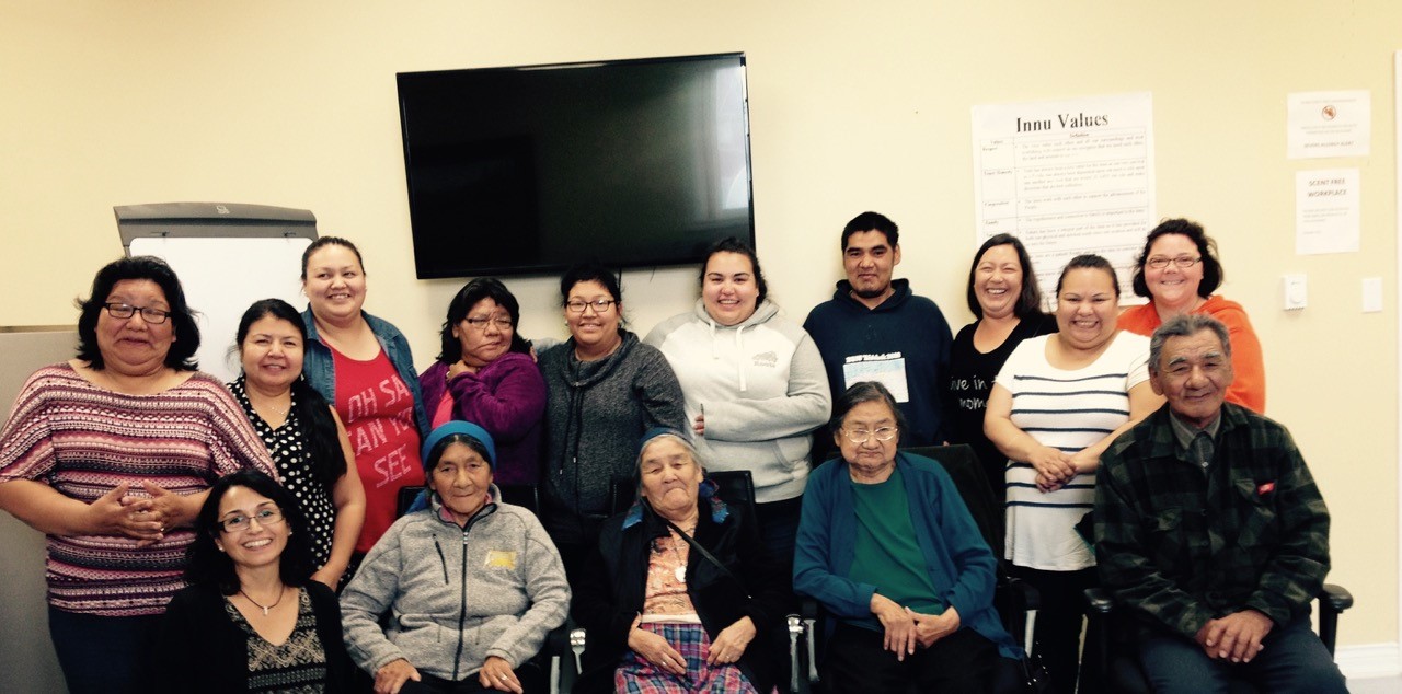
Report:
M 736 325 L 719 325 L 697 300 L 644 341 L 667 358 L 686 395 L 687 425 L 705 414 L 694 443 L 708 470 L 749 470 L 758 503 L 803 494 L 810 433 L 833 398 L 817 346 L 765 299 Z

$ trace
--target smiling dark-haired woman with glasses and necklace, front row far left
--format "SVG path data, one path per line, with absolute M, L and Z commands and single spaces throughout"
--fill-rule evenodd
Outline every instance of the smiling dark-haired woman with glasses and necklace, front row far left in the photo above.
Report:
M 311 573 L 311 527 L 255 470 L 222 477 L 195 519 L 185 578 L 161 618 L 150 691 L 349 691 L 336 594 Z

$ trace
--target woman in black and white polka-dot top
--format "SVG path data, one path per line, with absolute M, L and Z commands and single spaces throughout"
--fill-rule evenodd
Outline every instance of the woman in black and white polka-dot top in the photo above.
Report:
M 360 524 L 365 489 L 335 409 L 301 377 L 307 328 L 282 299 L 244 311 L 236 341 L 244 374 L 229 390 L 238 398 L 307 517 L 314 580 L 336 587 L 345 576 Z

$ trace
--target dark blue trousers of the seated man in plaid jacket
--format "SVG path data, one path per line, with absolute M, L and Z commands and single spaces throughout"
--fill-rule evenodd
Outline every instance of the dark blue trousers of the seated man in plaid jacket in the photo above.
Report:
M 1323 642 L 1302 617 L 1276 627 L 1260 642 L 1266 646 L 1249 663 L 1207 658 L 1196 641 L 1180 635 L 1154 637 L 1140 645 L 1140 663 L 1154 691 L 1227 693 L 1230 680 L 1241 679 L 1260 691 L 1346 694 L 1343 673 Z

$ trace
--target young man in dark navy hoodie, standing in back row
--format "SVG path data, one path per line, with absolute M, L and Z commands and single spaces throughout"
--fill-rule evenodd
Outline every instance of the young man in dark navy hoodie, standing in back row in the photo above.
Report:
M 833 397 L 858 381 L 880 381 L 904 412 L 906 446 L 931 446 L 949 437 L 939 387 L 949 370 L 953 341 L 945 314 L 916 296 L 906 279 L 892 279 L 900 264 L 900 234 L 885 215 L 864 212 L 843 229 L 843 266 L 830 301 L 803 322 L 823 355 Z

